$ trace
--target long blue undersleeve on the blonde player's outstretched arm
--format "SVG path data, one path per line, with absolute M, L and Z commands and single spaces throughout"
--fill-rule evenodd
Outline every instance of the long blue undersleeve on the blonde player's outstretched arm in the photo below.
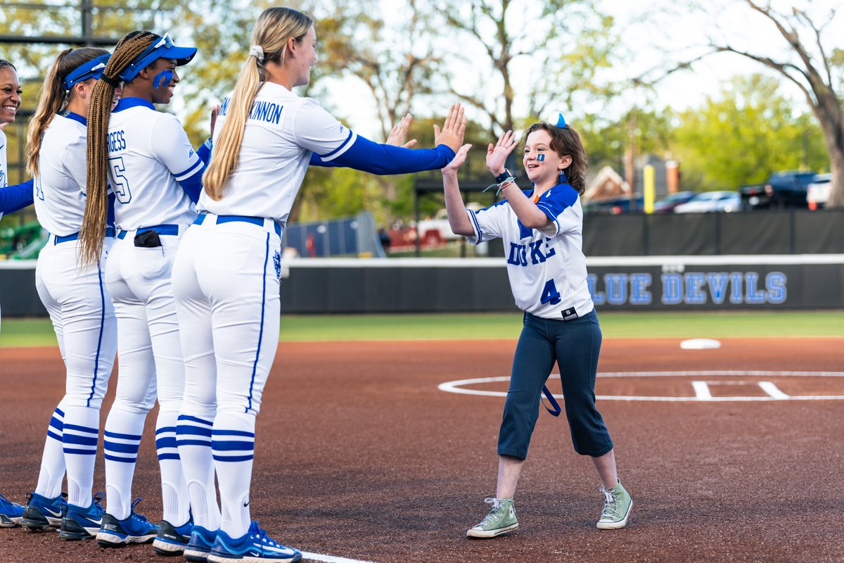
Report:
M 408 174 L 442 168 L 452 161 L 454 151 L 445 144 L 435 149 L 405 149 L 392 144 L 374 143 L 360 135 L 349 149 L 331 160 L 311 154 L 311 165 L 344 166 L 370 174 Z

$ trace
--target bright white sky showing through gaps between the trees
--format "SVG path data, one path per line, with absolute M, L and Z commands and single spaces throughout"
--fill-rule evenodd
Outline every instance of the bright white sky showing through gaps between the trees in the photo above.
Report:
M 767 0 L 759 1 L 765 3 Z M 632 78 L 643 73 L 649 78 L 660 76 L 662 71 L 657 70 L 649 74 L 647 71 L 671 67 L 676 62 L 708 51 L 707 45 L 712 39 L 771 57 L 785 59 L 792 56 L 786 41 L 771 21 L 753 12 L 744 0 L 701 0 L 701 4 L 706 6 L 704 11 L 690 9 L 687 4 L 692 2 L 684 0 L 652 0 L 648 3 L 598 0 L 598 3 L 605 13 L 616 19 L 617 29 L 623 34 L 622 42 L 629 53 L 623 66 L 614 69 L 615 77 Z M 825 46 L 830 49 L 844 48 L 844 34 L 830 33 L 844 29 L 844 3 L 841 0 L 772 0 L 771 4 L 783 13 L 791 13 L 791 9 L 797 6 L 806 10 L 815 22 L 827 19 L 826 16 L 832 8 L 841 8 L 840 14 L 836 14 L 836 18 L 828 25 Z M 390 13 L 391 10 L 384 10 L 385 17 Z M 516 17 L 520 15 L 517 14 Z M 514 82 L 531 79 L 529 64 L 514 66 L 517 66 Z M 526 73 L 524 76 L 519 75 L 519 68 Z M 758 62 L 732 53 L 720 53 L 695 62 L 691 70 L 679 71 L 663 78 L 655 87 L 655 92 L 647 93 L 631 88 L 610 111 L 621 115 L 628 111 L 630 106 L 647 104 L 657 108 L 671 106 L 675 110 L 701 106 L 707 96 L 720 95 L 723 84 L 731 78 L 749 73 L 766 73 L 782 78 Z M 783 95 L 791 97 L 796 106 L 808 109 L 803 94 L 793 84 L 784 79 L 782 84 Z M 342 94 L 329 93 L 324 103 L 337 111 L 338 115 L 348 116 L 349 125 L 358 133 L 379 138 L 380 129 L 372 118 L 375 110 L 371 104 L 369 90 L 354 79 L 344 80 L 342 86 L 338 84 L 338 87 L 332 90 Z M 443 103 L 445 106 L 447 102 Z M 444 111 L 445 108 L 437 110 Z M 517 104 L 516 111 L 526 111 L 526 107 L 524 104 Z M 560 108 L 560 111 L 567 111 L 567 108 Z M 606 108 L 586 108 L 583 111 L 606 111 Z M 433 113 L 436 115 L 436 110 Z M 478 121 L 484 119 L 481 115 L 473 115 L 472 110 L 468 111 L 468 116 Z

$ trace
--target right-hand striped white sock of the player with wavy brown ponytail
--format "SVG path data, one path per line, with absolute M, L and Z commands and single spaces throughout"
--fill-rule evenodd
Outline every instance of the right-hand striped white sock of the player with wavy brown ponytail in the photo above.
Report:
M 94 462 L 100 437 L 100 409 L 68 407 L 64 413 L 64 461 L 68 466 L 68 504 L 91 504 Z

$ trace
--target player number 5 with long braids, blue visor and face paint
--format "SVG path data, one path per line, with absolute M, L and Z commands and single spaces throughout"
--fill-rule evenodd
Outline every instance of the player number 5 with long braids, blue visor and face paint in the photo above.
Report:
M 196 218 L 193 200 L 204 162 L 176 117 L 155 111 L 153 103 L 170 102 L 179 82 L 176 66 L 187 64 L 195 52 L 175 46 L 169 35 L 125 36 L 95 89 L 91 103 L 98 111 L 92 109 L 89 123 L 86 225 L 101 227 L 104 194 L 91 197 L 98 183 L 92 171 L 101 176 L 106 164 L 119 230 L 106 268 L 117 317 L 119 377 L 106 420 L 107 506 L 97 542 L 118 547 L 154 540 L 156 551 L 165 554 L 180 553 L 192 527 L 176 450 L 184 365 L 170 267 L 181 235 Z M 124 81 L 123 97 L 109 116 L 100 99 L 111 94 L 118 78 Z M 96 125 L 95 119 L 100 120 Z M 160 528 L 134 512 L 137 501 L 131 493 L 143 422 L 156 396 L 155 443 L 164 507 Z

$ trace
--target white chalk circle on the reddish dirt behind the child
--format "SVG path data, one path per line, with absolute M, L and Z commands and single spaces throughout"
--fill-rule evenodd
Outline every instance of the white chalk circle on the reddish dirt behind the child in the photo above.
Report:
M 551 374 L 555 376 L 559 374 Z M 609 371 L 599 373 L 598 377 L 844 377 L 844 371 Z M 506 397 L 506 391 L 486 391 L 482 389 L 467 389 L 466 385 L 482 383 L 509 382 L 510 376 L 477 377 L 461 379 L 453 382 L 441 383 L 437 388 L 444 392 L 462 393 L 465 395 L 482 395 L 485 397 Z M 726 383 L 726 382 L 725 382 Z M 733 382 L 738 383 L 738 382 Z M 695 391 L 690 397 L 658 397 L 647 395 L 597 395 L 595 398 L 603 401 L 664 401 L 715 403 L 729 401 L 841 401 L 844 395 L 787 395 L 780 391 L 772 382 L 741 382 L 756 383 L 766 392 L 762 397 L 713 397 L 706 382 L 692 382 Z M 562 394 L 555 394 L 555 398 L 564 398 Z

